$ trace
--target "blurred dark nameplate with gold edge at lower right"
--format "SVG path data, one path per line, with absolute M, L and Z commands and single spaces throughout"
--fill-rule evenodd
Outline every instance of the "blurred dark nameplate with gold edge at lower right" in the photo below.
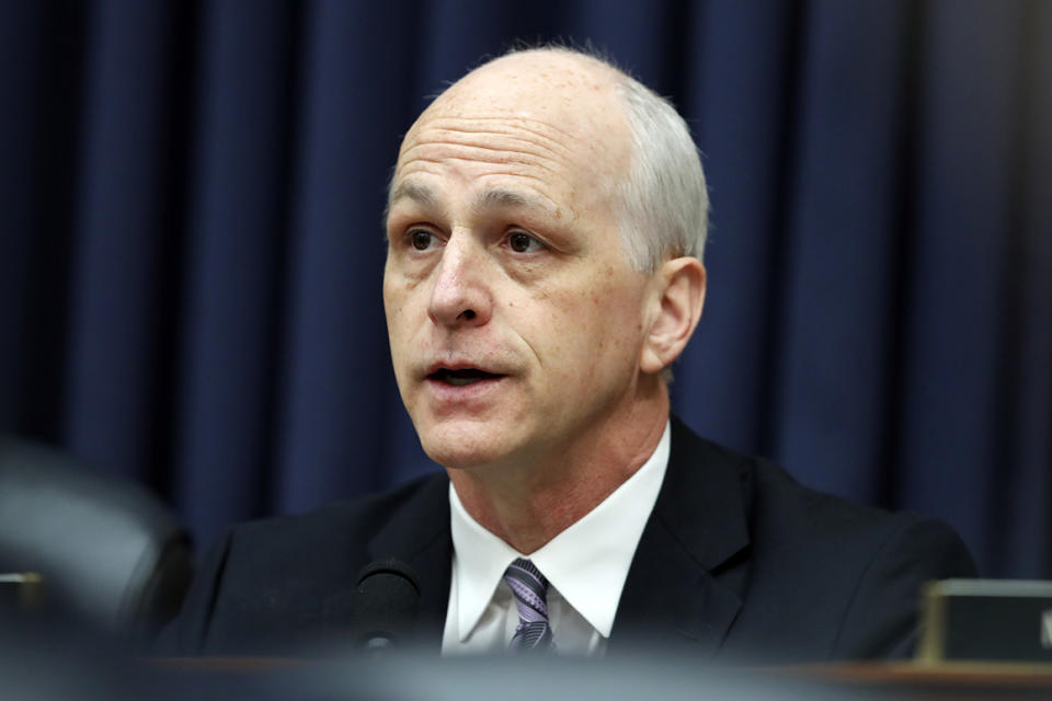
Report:
M 923 610 L 919 663 L 1052 664 L 1052 582 L 931 582 Z

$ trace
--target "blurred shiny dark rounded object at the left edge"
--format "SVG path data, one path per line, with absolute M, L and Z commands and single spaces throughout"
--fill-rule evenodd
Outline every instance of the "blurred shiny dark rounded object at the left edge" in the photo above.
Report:
M 0 574 L 24 573 L 35 578 L 12 579 L 20 597 L 31 586 L 49 609 L 147 641 L 175 616 L 190 586 L 190 539 L 138 485 L 57 450 L 0 438 Z

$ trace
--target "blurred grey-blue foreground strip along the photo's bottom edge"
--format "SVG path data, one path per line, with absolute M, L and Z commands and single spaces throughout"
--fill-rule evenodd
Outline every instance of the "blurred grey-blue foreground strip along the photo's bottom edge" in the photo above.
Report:
M 0 698 L 268 701 L 743 701 L 808 699 L 1048 699 L 1052 669 L 911 664 L 733 668 L 640 650 L 609 659 L 439 658 L 412 650 L 363 654 L 348 643 L 313 658 L 141 658 L 127 641 L 46 613 L 0 612 Z M 318 654 L 318 651 L 313 651 Z

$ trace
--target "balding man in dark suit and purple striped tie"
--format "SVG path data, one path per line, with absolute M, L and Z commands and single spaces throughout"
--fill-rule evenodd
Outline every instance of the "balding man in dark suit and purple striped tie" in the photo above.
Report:
M 357 572 L 396 556 L 420 578 L 421 644 L 446 654 L 906 654 L 919 585 L 974 572 L 946 526 L 808 491 L 670 420 L 707 209 L 683 119 L 595 58 L 511 54 L 436 99 L 391 182 L 384 300 L 448 479 L 235 529 L 180 648 L 339 640 Z

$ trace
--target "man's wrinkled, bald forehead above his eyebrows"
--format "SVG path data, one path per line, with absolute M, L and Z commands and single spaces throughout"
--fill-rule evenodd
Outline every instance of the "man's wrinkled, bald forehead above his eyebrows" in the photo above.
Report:
M 561 57 L 512 56 L 470 73 L 421 115 L 402 142 L 392 203 L 414 183 L 432 180 L 434 189 L 437 176 L 479 191 L 510 185 L 558 207 L 608 192 L 629 157 L 610 76 Z

